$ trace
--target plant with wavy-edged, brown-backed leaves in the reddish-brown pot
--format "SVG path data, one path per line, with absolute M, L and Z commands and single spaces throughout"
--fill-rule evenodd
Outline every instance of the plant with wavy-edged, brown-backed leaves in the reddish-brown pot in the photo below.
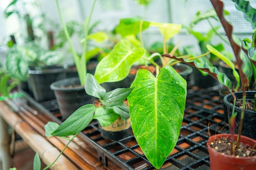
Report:
M 207 147 L 209 151 L 210 156 L 210 162 L 211 162 L 211 169 L 213 170 L 219 170 L 219 169 L 255 169 L 256 166 L 256 153 L 254 151 L 256 146 L 256 141 L 252 138 L 245 137 L 241 135 L 241 131 L 243 128 L 243 121 L 245 118 L 245 102 L 247 100 L 247 93 L 245 91 L 245 87 L 249 84 L 250 79 L 253 74 L 253 70 L 255 68 L 255 50 L 254 50 L 254 37 L 253 36 L 253 42 L 252 47 L 245 46 L 243 42 L 233 35 L 232 33 L 232 26 L 229 24 L 225 17 L 223 16 L 223 2 L 220 0 L 211 0 L 211 3 L 213 4 L 214 9 L 216 10 L 216 13 L 218 14 L 218 17 L 220 18 L 220 21 L 222 23 L 222 26 L 227 34 L 227 37 L 230 41 L 231 47 L 234 51 L 236 61 L 238 63 L 238 71 L 241 78 L 241 89 L 242 89 L 242 107 L 240 109 L 240 112 L 236 110 L 236 101 L 238 100 L 236 94 L 232 92 L 231 83 L 230 80 L 227 79 L 227 76 L 223 76 L 225 74 L 214 74 L 216 71 L 215 69 L 212 69 L 207 65 L 206 63 L 201 64 L 197 63 L 195 61 L 187 61 L 186 59 L 177 59 L 175 56 L 171 57 L 169 55 L 164 55 L 166 57 L 171 57 L 173 59 L 180 60 L 184 63 L 188 63 L 190 65 L 193 65 L 197 68 L 200 68 L 201 70 L 204 70 L 203 68 L 207 68 L 205 70 L 215 78 L 217 78 L 222 84 L 227 87 L 229 92 L 232 95 L 233 105 L 229 106 L 232 107 L 231 116 L 229 116 L 229 129 L 231 134 L 221 134 L 221 135 L 213 135 L 209 138 L 207 141 Z M 243 11 L 246 16 L 250 16 L 252 13 L 255 13 L 255 9 L 250 7 L 248 1 L 234 1 L 236 4 L 237 9 L 243 11 L 244 9 L 240 7 L 247 6 L 249 10 Z M 255 26 L 254 21 L 249 19 L 251 23 Z M 222 75 L 222 76 L 220 76 Z M 254 74 L 255 75 L 255 74 Z M 234 135 L 235 132 L 235 121 L 236 121 L 236 114 L 239 115 L 239 128 L 238 128 L 238 135 Z M 245 122 L 246 123 L 246 122 Z M 255 122 L 254 122 L 255 124 Z M 254 131 L 252 129 L 251 131 Z M 218 145 L 222 144 L 222 145 Z M 227 149 L 229 148 L 229 149 Z M 239 153 L 243 153 L 240 155 Z

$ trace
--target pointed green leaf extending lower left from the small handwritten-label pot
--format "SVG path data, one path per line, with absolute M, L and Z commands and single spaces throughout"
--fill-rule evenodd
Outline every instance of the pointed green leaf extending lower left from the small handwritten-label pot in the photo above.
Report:
M 69 136 L 82 131 L 92 121 L 95 110 L 96 108 L 92 104 L 83 105 L 74 111 L 51 135 Z

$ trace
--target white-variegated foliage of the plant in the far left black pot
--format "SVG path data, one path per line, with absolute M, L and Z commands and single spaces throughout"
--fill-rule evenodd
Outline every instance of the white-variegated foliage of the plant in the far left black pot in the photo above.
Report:
M 41 69 L 60 63 L 63 54 L 47 51 L 34 42 L 24 46 L 13 45 L 6 54 L 6 69 L 9 75 L 19 81 L 27 81 L 29 67 Z

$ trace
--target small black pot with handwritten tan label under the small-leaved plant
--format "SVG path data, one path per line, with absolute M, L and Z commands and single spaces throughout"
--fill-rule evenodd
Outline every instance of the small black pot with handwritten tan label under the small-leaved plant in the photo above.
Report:
M 110 126 L 102 127 L 99 124 L 101 136 L 105 139 L 119 140 L 131 135 L 130 118 L 126 121 L 122 121 L 119 117 Z

